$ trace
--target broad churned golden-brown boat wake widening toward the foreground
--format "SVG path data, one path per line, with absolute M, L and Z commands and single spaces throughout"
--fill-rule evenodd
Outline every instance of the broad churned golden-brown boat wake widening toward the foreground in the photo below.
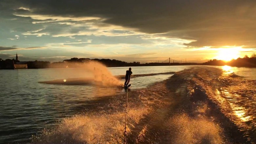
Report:
M 193 67 L 147 88 L 128 91 L 127 143 L 256 142 L 253 80 Z M 97 99 L 81 115 L 32 136 L 35 144 L 122 143 L 126 93 Z

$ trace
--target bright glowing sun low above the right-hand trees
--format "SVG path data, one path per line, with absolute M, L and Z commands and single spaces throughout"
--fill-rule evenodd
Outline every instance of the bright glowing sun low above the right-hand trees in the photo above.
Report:
M 241 47 L 219 48 L 218 55 L 214 57 L 217 60 L 231 61 L 240 57 Z

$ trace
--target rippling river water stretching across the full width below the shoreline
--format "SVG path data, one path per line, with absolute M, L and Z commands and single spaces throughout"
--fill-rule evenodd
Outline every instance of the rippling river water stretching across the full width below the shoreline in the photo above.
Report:
M 202 69 L 204 73 L 199 69 Z M 108 70 L 112 75 L 119 76 L 124 75 L 128 67 L 110 67 Z M 185 77 L 187 74 L 180 72 L 183 70 L 185 72 L 190 70 L 191 73 L 194 73 L 193 78 L 190 76 L 190 78 Z M 194 97 L 198 89 L 204 91 L 204 95 L 211 102 L 215 103 L 218 111 L 227 118 L 222 119 L 223 121 L 229 121 L 234 124 L 234 129 L 242 131 L 242 138 L 235 139 L 230 136 L 232 134 L 219 134 L 225 131 L 226 128 L 221 126 L 219 128 L 217 120 L 209 120 L 209 118 L 205 118 L 206 116 L 204 119 L 202 117 L 198 118 L 198 116 L 191 119 L 191 113 L 175 114 L 174 117 L 178 117 L 177 119 L 183 118 L 178 123 L 187 122 L 191 124 L 192 121 L 194 123 L 191 125 L 196 125 L 198 122 L 207 123 L 209 120 L 210 126 L 208 127 L 216 129 L 218 134 L 212 134 L 215 131 L 211 134 L 200 133 L 200 135 L 213 135 L 213 139 L 217 139 L 216 141 L 208 140 L 207 143 L 219 143 L 220 141 L 222 143 L 236 141 L 255 142 L 255 68 L 228 66 L 146 66 L 132 67 L 132 71 L 133 75 L 140 76 L 132 77 L 130 81 L 132 86 L 129 89 L 131 106 L 129 111 L 130 119 L 128 118 L 128 125 L 130 126 L 130 140 L 128 143 L 147 143 L 149 141 L 151 141 L 150 143 L 153 143 L 153 141 L 155 143 L 168 143 L 169 141 L 184 143 L 184 141 L 178 140 L 180 139 L 178 135 L 186 135 L 187 133 L 178 134 L 177 132 L 176 137 L 165 140 L 156 136 L 155 132 L 159 131 L 158 128 L 160 126 L 158 126 L 159 121 L 154 119 L 161 119 L 161 116 L 163 117 L 162 114 L 165 112 L 165 109 L 159 108 L 160 105 L 171 108 L 172 103 L 170 101 L 178 93 L 183 95 L 184 98 L 182 99 L 185 99 L 187 93 Z M 179 79 L 176 80 L 177 76 L 171 77 L 174 74 L 160 74 L 166 72 L 178 72 L 177 76 L 179 76 Z M 147 74 L 156 75 L 148 76 Z M 123 112 L 125 110 L 123 106 L 126 100 L 126 91 L 120 87 L 95 84 L 39 83 L 41 81 L 53 80 L 68 81 L 73 78 L 95 78 L 95 76 L 83 68 L 0 70 L 0 144 L 121 143 L 124 124 Z M 177 81 L 184 82 L 183 80 L 189 81 L 190 84 L 183 83 L 179 88 L 175 88 L 175 86 L 180 84 Z M 120 83 L 124 82 L 123 79 L 118 81 Z M 168 82 L 170 81 L 172 83 L 177 82 L 177 84 L 169 87 L 171 84 L 168 84 Z M 196 84 L 192 85 L 191 83 L 193 82 Z M 184 89 L 186 94 L 182 94 L 183 86 L 186 87 Z M 174 90 L 175 92 L 172 95 Z M 205 102 L 204 104 L 202 102 L 199 103 L 197 107 L 202 107 L 202 109 L 203 107 L 211 108 Z M 160 112 L 152 108 L 156 108 Z M 178 112 L 172 111 L 171 113 L 168 113 L 166 117 L 169 118 L 173 113 Z M 146 118 L 151 119 L 151 122 L 144 122 L 143 120 Z M 177 119 L 169 119 L 171 122 L 168 125 L 175 121 L 177 122 Z M 224 123 L 223 121 L 222 123 Z M 178 127 L 197 129 L 191 127 L 190 124 Z M 169 130 L 176 126 L 170 126 Z M 83 132 L 80 132 L 80 130 Z M 201 129 L 201 131 L 203 130 Z M 204 131 L 207 131 L 207 129 Z M 145 138 L 146 135 L 155 135 L 153 136 L 155 140 L 148 137 Z M 189 133 L 188 135 L 191 134 Z M 168 135 L 165 136 L 168 137 Z M 52 141 L 53 137 L 55 140 Z M 202 137 L 193 138 L 202 139 Z M 156 140 L 157 138 L 160 140 Z M 192 143 L 198 143 L 193 138 L 191 140 L 193 141 Z M 191 137 L 187 137 L 187 139 L 189 140 Z M 185 142 L 189 143 L 190 141 Z

